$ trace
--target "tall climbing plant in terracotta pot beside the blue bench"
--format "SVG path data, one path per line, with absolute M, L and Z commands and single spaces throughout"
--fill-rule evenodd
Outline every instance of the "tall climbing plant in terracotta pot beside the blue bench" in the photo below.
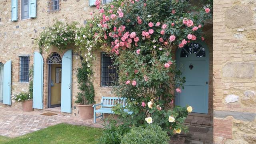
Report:
M 80 92 L 77 93 L 79 116 L 82 120 L 93 118 L 93 104 L 94 101 L 94 87 L 92 82 L 90 82 L 90 77 L 92 70 L 88 67 L 87 62 L 82 62 L 82 66 L 77 69 L 77 81 L 78 89 Z

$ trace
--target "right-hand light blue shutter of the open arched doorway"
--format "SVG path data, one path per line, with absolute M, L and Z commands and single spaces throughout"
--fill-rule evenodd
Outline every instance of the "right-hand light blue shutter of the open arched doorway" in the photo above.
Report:
M 72 50 L 62 57 L 61 77 L 61 112 L 71 113 Z

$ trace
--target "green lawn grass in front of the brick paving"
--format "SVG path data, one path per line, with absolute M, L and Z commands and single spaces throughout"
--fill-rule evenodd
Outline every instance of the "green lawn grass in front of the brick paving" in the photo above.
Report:
M 58 124 L 16 138 L 0 136 L 0 144 L 96 144 L 100 128 Z

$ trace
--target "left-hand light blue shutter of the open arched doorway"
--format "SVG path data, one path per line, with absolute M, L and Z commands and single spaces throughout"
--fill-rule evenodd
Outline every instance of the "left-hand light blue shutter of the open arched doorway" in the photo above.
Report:
M 39 52 L 34 53 L 33 108 L 43 109 L 44 61 Z

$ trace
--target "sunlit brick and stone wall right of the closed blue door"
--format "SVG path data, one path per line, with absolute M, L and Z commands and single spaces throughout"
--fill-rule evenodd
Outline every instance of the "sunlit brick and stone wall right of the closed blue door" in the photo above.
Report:
M 214 0 L 213 81 L 215 144 L 255 144 L 255 0 Z

